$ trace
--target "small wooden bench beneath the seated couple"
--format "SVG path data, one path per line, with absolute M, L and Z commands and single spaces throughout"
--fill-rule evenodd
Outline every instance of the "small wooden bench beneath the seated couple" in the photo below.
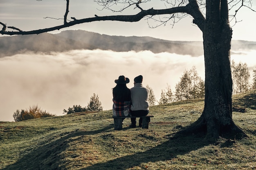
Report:
M 122 122 L 124 118 L 142 118 L 142 129 L 148 129 L 148 124 L 150 122 L 150 118 L 153 118 L 153 115 L 147 116 L 112 116 L 114 119 L 115 130 L 122 130 Z

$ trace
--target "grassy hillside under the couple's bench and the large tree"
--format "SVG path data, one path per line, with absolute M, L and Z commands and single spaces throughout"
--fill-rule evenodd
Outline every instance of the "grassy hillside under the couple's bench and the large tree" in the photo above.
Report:
M 249 138 L 173 135 L 201 115 L 204 101 L 150 108 L 149 129 L 115 131 L 112 111 L 78 113 L 22 122 L 0 122 L 2 170 L 231 170 L 256 168 L 256 92 L 234 97 L 247 112 L 233 118 Z M 248 105 L 248 101 L 250 104 Z

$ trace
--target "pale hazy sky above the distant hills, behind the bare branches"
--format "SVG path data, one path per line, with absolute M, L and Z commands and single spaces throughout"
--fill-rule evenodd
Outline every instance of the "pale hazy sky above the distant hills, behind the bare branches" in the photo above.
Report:
M 252 8 L 256 10 L 256 0 L 252 0 L 252 2 Z M 56 24 L 61 25 L 63 20 L 44 19 L 44 17 L 63 18 L 65 5 L 65 0 L 0 0 L 0 21 L 7 24 L 7 26 L 16 26 L 24 31 L 56 26 Z M 145 9 L 151 7 L 154 7 L 154 9 L 164 9 L 164 5 L 164 2 L 161 0 L 153 0 L 147 6 L 144 6 Z M 101 7 L 96 2 L 93 2 L 93 0 L 70 0 L 68 18 L 94 17 L 94 14 L 98 16 L 115 15 L 115 13 L 108 10 L 99 11 L 97 9 L 101 9 Z M 137 12 L 132 10 L 127 13 L 123 12 L 121 15 L 135 14 Z M 237 14 L 237 20 L 242 20 L 242 22 L 238 22 L 232 28 L 233 39 L 256 41 L 255 17 L 255 12 L 247 8 L 240 9 Z M 147 21 L 142 19 L 134 23 L 117 21 L 92 22 L 66 29 L 82 29 L 107 35 L 136 35 L 168 40 L 202 41 L 202 33 L 197 26 L 192 25 L 192 20 L 191 17 L 186 17 L 177 22 L 173 28 L 168 23 L 166 26 L 148 28 Z M 155 22 L 150 22 L 150 25 L 155 24 Z

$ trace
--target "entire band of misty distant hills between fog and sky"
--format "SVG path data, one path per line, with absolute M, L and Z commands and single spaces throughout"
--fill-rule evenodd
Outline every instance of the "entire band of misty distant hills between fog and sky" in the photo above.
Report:
M 58 34 L 16 35 L 0 37 L 0 57 L 32 52 L 65 52 L 68 50 L 101 49 L 117 52 L 150 50 L 182 55 L 203 54 L 202 41 L 168 41 L 153 37 L 124 37 L 101 35 L 82 30 L 62 31 Z M 253 41 L 232 41 L 232 50 L 256 49 Z

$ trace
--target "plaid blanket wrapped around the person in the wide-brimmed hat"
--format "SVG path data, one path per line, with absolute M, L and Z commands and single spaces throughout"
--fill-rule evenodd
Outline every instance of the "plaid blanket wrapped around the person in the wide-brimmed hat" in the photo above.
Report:
M 130 116 L 131 101 L 119 102 L 113 99 L 113 116 Z

